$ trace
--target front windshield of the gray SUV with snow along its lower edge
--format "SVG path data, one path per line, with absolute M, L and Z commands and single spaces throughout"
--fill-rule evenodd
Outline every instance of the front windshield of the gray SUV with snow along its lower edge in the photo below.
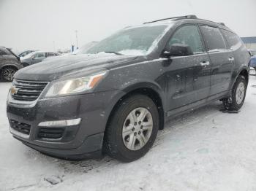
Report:
M 86 54 L 118 52 L 124 55 L 146 55 L 153 42 L 167 26 L 143 26 L 127 28 L 86 50 Z

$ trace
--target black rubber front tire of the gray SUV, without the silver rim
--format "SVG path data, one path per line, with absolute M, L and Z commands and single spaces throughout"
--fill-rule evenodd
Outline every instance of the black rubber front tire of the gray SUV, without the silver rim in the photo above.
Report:
M 122 128 L 127 115 L 132 112 L 133 109 L 138 107 L 146 108 L 151 113 L 153 118 L 153 129 L 151 137 L 148 139 L 146 145 L 139 150 L 132 151 L 124 145 L 124 141 L 122 139 Z M 116 109 L 108 128 L 110 128 L 109 133 L 111 133 L 108 136 L 108 139 L 111 139 L 108 140 L 108 144 L 110 144 L 110 147 L 112 148 L 110 155 L 124 162 L 137 160 L 148 152 L 157 137 L 159 129 L 159 114 L 157 106 L 146 95 L 133 95 L 132 97 L 121 101 L 121 104 L 118 106 L 118 109 Z

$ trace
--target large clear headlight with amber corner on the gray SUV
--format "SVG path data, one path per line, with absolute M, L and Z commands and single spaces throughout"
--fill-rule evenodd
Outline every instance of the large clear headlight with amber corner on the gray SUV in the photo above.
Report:
M 56 97 L 60 95 L 68 95 L 72 93 L 80 93 L 95 87 L 106 72 L 95 74 L 91 77 L 82 77 L 77 79 L 68 79 L 61 82 L 55 82 L 50 86 L 45 94 L 46 98 Z

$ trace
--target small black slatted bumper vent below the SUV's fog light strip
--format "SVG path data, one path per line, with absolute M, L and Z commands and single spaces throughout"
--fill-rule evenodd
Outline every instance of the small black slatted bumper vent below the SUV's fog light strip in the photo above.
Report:
M 38 137 L 41 139 L 60 139 L 64 128 L 39 128 Z

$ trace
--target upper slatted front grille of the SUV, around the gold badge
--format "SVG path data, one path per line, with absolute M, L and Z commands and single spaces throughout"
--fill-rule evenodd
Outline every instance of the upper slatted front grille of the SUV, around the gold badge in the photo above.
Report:
M 48 82 L 30 82 L 15 79 L 13 85 L 17 89 L 16 93 L 12 93 L 12 98 L 20 101 L 34 101 L 45 89 Z

